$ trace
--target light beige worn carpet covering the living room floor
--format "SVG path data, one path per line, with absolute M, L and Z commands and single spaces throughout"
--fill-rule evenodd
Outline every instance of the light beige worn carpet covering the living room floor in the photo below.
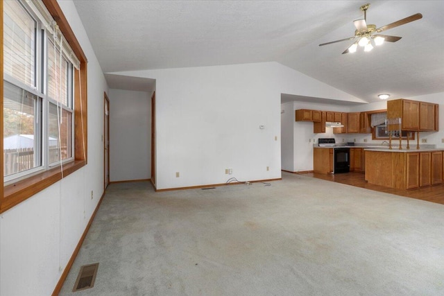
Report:
M 444 295 L 444 205 L 282 173 L 108 187 L 60 295 Z M 72 293 L 80 265 L 94 288 Z

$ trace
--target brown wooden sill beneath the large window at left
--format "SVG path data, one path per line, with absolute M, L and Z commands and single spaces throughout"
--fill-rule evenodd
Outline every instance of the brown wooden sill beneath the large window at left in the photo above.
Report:
M 85 166 L 84 160 L 75 160 L 63 165 L 63 177 L 74 173 L 79 168 Z M 33 175 L 19 182 L 9 184 L 3 188 L 3 198 L 1 200 L 0 213 L 6 211 L 15 205 L 23 202 L 24 200 L 31 198 L 35 195 L 51 186 L 52 184 L 62 180 L 62 172 L 60 166 L 51 168 L 43 173 Z

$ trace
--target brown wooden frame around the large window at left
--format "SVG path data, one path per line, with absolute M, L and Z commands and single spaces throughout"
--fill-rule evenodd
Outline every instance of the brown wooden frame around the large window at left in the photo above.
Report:
M 87 58 L 81 48 L 74 32 L 58 5 L 57 1 L 42 0 L 53 19 L 58 24 L 60 32 L 64 35 L 72 51 L 80 61 L 80 69 L 74 69 L 74 150 L 72 151 L 74 161 L 66 164 L 58 164 L 46 171 L 31 175 L 24 180 L 18 180 L 0 189 L 0 213 L 7 211 L 15 205 L 31 198 L 52 184 L 58 182 L 62 177 L 74 173 L 87 164 Z M 3 1 L 0 1 L 0 26 L 3 33 Z M 3 38 L 0 44 L 0 62 L 3 64 Z M 40 81 L 37 81 L 40 83 Z M 3 94 L 3 71 L 0 71 L 0 90 Z M 0 98 L 0 130 L 3 134 L 3 95 Z M 3 141 L 0 141 L 3 150 Z M 3 154 L 0 155 L 3 163 Z M 3 179 L 3 165 L 0 167 L 0 176 Z

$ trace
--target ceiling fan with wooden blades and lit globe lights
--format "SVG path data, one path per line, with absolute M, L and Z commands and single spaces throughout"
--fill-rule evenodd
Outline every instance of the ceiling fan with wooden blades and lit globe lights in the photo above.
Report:
M 398 40 L 400 40 L 402 38 L 402 37 L 398 37 L 398 36 L 379 34 L 382 31 L 387 31 L 388 29 L 395 28 L 397 26 L 401 26 L 401 25 L 407 24 L 411 21 L 416 21 L 416 20 L 422 18 L 422 15 L 420 13 L 416 13 L 415 15 L 411 15 L 410 17 L 406 17 L 404 19 L 400 19 L 399 21 L 395 21 L 391 24 L 376 28 L 376 26 L 373 24 L 367 24 L 367 10 L 368 10 L 369 6 L 370 6 L 369 3 L 361 6 L 361 10 L 364 11 L 364 19 L 357 19 L 357 20 L 353 21 L 353 24 L 355 24 L 355 27 L 356 27 L 355 36 L 348 37 L 348 38 L 341 39 L 341 40 L 336 40 L 336 41 L 332 41 L 332 42 L 319 44 L 319 46 L 332 44 L 332 43 L 336 43 L 336 42 L 342 42 L 345 40 L 357 39 L 351 46 L 348 47 L 348 49 L 345 49 L 345 51 L 342 54 L 355 53 L 355 51 L 357 51 L 358 45 L 364 46 L 364 51 L 371 51 L 373 49 L 372 43 L 375 44 L 375 46 L 379 46 L 379 45 L 383 44 L 384 41 L 397 42 Z

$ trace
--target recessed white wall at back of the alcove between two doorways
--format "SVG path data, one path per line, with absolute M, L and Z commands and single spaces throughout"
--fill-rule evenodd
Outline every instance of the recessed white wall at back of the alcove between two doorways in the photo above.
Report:
M 151 177 L 151 94 L 110 89 L 110 181 Z

